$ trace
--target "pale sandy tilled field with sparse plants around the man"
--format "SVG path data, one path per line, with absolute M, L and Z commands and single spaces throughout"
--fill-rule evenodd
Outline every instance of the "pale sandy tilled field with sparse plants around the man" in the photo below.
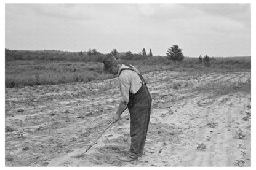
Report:
M 250 166 L 250 72 L 150 72 L 145 154 L 122 163 L 129 112 L 117 79 L 6 89 L 6 166 Z

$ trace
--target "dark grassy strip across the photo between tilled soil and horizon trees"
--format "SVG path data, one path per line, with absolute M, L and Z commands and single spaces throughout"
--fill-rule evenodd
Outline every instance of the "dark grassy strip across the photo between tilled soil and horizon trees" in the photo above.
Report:
M 17 88 L 34 85 L 57 85 L 71 82 L 90 82 L 113 78 L 114 75 L 103 72 L 102 56 L 77 56 L 75 53 L 52 53 L 47 58 L 43 52 L 28 53 L 24 55 L 6 54 L 5 79 L 6 88 Z M 39 55 L 41 60 L 36 60 L 31 54 Z M 47 52 L 48 54 L 48 52 Z M 68 54 L 74 55 L 71 58 Z M 56 55 L 56 56 L 54 56 Z M 44 60 L 42 60 L 44 59 Z M 48 60 L 49 59 L 49 60 Z M 129 58 L 128 58 L 129 59 Z M 250 71 L 250 57 L 211 58 L 209 63 L 199 62 L 198 58 L 185 57 L 183 61 L 174 63 L 163 56 L 152 58 L 121 58 L 121 63 L 133 64 L 142 74 L 151 71 Z

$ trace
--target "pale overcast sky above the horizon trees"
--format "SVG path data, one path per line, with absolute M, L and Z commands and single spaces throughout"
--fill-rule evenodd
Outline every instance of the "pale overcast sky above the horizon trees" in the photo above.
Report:
M 250 56 L 250 4 L 6 4 L 6 48 Z

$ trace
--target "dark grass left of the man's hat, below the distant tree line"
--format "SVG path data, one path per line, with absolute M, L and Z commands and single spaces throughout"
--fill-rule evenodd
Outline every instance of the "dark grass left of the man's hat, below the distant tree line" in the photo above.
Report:
M 6 62 L 6 88 L 34 85 L 57 85 L 71 82 L 89 82 L 110 79 L 104 74 L 102 63 L 60 61 L 8 61 Z

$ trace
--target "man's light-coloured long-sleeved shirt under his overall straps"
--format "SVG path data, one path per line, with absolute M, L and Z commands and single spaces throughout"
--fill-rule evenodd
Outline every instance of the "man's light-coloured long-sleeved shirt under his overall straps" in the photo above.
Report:
M 124 64 L 121 64 L 118 75 L 123 68 L 129 68 L 129 66 L 126 66 Z M 134 66 L 132 66 L 134 68 Z M 132 70 L 124 70 L 119 75 L 119 88 L 121 92 L 121 98 L 120 101 L 124 104 L 128 104 L 129 102 L 129 93 L 135 94 L 137 91 L 142 87 L 142 80 L 140 80 L 140 72 L 134 68 L 136 71 Z

